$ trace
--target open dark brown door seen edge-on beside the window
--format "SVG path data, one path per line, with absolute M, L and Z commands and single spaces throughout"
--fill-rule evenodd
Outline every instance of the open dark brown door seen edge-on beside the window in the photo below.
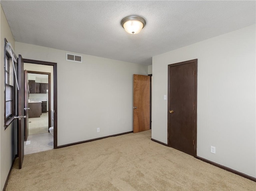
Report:
M 22 167 L 24 158 L 24 62 L 22 56 L 18 59 L 18 157 L 19 169 Z M 26 119 L 25 119 L 26 120 Z

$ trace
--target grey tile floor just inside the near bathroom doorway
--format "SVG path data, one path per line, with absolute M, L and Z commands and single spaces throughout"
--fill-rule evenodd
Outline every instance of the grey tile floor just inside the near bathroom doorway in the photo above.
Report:
M 30 144 L 27 144 L 30 141 Z M 50 133 L 29 135 L 24 142 L 24 155 L 53 149 L 53 136 Z

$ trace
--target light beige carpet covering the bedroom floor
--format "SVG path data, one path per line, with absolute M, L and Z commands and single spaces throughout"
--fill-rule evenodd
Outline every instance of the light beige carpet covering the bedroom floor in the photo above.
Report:
M 149 130 L 26 155 L 6 190 L 256 190 L 254 181 L 150 138 Z

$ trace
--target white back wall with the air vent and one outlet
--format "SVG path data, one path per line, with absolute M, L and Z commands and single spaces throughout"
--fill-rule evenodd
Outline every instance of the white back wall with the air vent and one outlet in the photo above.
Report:
M 132 131 L 133 74 L 147 75 L 148 66 L 90 55 L 77 63 L 63 50 L 15 45 L 26 59 L 57 63 L 58 146 Z

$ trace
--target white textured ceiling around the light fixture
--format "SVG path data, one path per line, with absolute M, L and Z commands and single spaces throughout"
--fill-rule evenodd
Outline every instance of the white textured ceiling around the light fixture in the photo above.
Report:
M 15 41 L 131 63 L 255 24 L 256 1 L 9 1 Z M 128 34 L 122 18 L 146 26 Z

